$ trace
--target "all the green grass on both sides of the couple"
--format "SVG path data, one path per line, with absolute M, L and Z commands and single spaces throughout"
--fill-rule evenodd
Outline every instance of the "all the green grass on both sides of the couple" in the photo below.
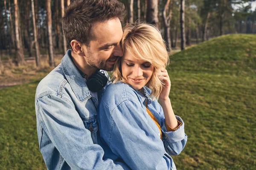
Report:
M 256 35 L 211 39 L 170 57 L 170 98 L 188 142 L 178 170 L 256 169 Z M 0 89 L 0 169 L 45 169 L 38 148 L 38 81 Z

